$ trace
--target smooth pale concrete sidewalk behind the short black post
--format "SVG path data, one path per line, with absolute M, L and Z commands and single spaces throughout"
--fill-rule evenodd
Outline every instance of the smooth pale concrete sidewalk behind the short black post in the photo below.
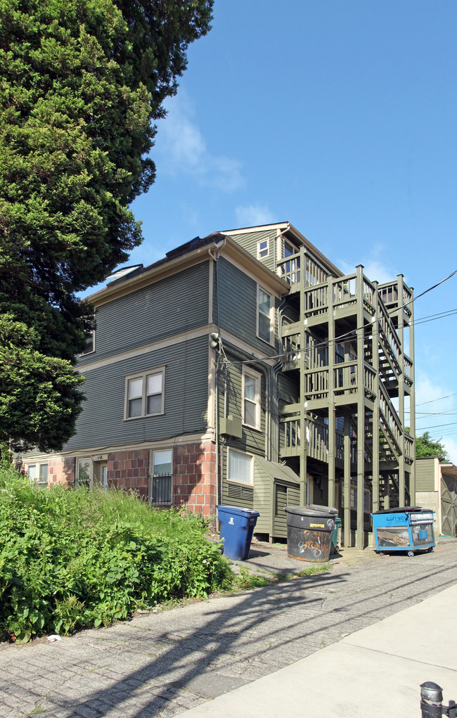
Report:
M 457 700 L 456 606 L 454 585 L 183 716 L 419 717 L 425 681 Z

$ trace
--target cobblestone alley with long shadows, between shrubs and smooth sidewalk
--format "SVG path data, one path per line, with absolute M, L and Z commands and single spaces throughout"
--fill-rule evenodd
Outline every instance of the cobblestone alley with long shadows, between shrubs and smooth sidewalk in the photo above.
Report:
M 168 718 L 457 582 L 457 541 L 413 559 L 369 555 L 56 643 L 4 646 L 1 718 Z

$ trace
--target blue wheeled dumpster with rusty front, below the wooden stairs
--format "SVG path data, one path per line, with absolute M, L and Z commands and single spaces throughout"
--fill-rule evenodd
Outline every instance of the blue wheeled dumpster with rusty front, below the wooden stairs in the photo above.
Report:
M 372 513 L 374 540 L 377 553 L 407 551 L 433 551 L 433 511 L 420 506 L 388 508 Z

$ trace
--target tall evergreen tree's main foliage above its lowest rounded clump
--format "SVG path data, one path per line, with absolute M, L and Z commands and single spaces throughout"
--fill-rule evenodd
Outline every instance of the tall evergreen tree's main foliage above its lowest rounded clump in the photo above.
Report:
M 77 293 L 141 242 L 129 205 L 154 182 L 154 121 L 212 2 L 0 0 L 0 314 L 44 356 L 83 350 Z

